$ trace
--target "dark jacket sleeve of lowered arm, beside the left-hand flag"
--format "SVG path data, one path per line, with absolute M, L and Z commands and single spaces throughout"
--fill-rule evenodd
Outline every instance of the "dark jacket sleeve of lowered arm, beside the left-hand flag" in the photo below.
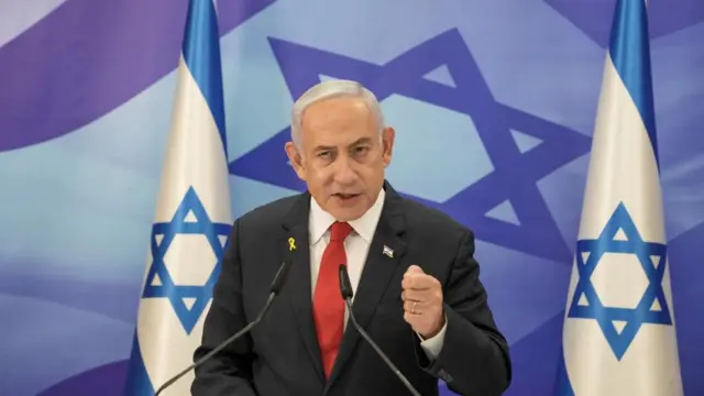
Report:
M 239 221 L 235 221 L 213 289 L 212 304 L 206 317 L 202 342 L 194 354 L 196 362 L 246 326 L 242 305 L 239 227 Z M 252 339 L 246 334 L 196 367 L 191 394 L 255 396 L 256 392 L 252 386 Z

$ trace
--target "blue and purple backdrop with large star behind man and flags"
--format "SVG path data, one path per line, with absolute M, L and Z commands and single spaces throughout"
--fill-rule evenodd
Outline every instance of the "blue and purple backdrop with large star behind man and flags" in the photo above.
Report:
M 413 3 L 413 4 L 411 4 Z M 0 394 L 118 395 L 134 332 L 186 0 L 0 1 Z M 299 191 L 293 98 L 365 84 L 389 180 L 475 230 L 512 345 L 549 395 L 614 0 L 220 1 L 235 216 Z M 704 394 L 704 2 L 651 1 L 674 315 Z

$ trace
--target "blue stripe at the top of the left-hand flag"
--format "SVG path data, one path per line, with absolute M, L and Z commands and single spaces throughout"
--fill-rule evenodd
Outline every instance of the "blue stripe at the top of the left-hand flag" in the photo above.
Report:
M 183 53 L 186 65 L 216 120 L 227 157 L 220 32 L 218 14 L 211 0 L 189 1 Z

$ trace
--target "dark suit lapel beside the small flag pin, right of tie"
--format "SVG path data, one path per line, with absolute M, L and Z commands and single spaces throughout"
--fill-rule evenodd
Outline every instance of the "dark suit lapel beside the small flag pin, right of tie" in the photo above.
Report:
M 402 198 L 391 185 L 385 184 L 384 187 L 386 189 L 384 209 L 370 246 L 360 284 L 354 294 L 354 302 L 352 304 L 354 317 L 362 328 L 366 328 L 366 324 L 374 316 L 376 307 L 400 263 L 400 257 L 406 251 L 406 242 L 402 238 L 406 231 Z M 328 387 L 344 369 L 360 338 L 360 333 L 350 320 L 330 374 Z

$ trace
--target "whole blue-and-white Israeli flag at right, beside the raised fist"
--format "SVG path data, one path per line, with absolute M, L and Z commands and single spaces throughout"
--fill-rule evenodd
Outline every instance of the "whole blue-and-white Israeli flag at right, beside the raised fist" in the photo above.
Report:
M 560 396 L 676 396 L 682 381 L 644 0 L 618 0 L 568 294 Z

